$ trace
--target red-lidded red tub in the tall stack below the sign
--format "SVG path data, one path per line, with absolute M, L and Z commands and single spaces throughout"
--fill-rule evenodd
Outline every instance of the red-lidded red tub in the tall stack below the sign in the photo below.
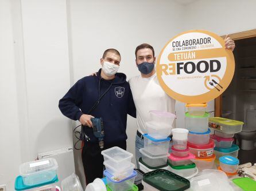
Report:
M 196 145 L 188 142 L 188 147 L 191 153 L 195 154 L 196 158 L 210 158 L 214 155 L 214 141 L 210 139 L 210 142 L 205 145 Z

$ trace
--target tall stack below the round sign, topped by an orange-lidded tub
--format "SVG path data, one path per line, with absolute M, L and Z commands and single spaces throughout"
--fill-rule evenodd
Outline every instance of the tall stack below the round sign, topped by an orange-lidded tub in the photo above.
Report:
M 211 140 L 208 129 L 209 114 L 205 112 L 206 104 L 187 104 L 185 128 L 188 133 L 188 148 L 195 154 L 195 162 L 199 170 L 214 168 L 215 142 Z

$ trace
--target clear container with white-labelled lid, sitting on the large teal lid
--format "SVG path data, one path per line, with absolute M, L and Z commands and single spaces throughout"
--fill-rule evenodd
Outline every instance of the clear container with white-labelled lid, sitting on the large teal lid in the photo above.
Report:
M 57 168 L 58 164 L 54 158 L 45 158 L 21 164 L 20 174 L 25 185 L 36 185 L 53 180 Z

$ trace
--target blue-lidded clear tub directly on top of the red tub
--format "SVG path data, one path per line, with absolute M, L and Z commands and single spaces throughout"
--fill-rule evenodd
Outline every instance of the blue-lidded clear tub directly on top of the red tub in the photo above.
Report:
M 210 141 L 210 133 L 210 129 L 208 129 L 207 132 L 204 133 L 189 132 L 188 142 L 191 142 L 192 144 L 196 145 L 208 144 L 208 142 Z

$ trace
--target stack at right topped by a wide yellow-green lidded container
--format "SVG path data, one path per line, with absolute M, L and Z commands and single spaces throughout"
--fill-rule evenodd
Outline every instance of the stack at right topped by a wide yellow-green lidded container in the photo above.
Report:
M 212 117 L 209 119 L 209 127 L 214 130 L 214 135 L 211 138 L 215 141 L 216 162 L 219 163 L 219 158 L 222 156 L 238 157 L 239 147 L 232 144 L 234 134 L 242 130 L 243 122 L 229 120 L 221 117 Z

